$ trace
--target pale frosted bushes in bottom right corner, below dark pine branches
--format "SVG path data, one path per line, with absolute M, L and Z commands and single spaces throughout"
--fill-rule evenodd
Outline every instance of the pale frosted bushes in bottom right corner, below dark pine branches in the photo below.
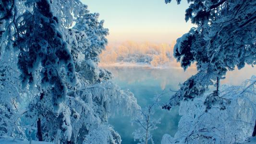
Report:
M 174 138 L 165 134 L 161 144 L 234 144 L 243 143 L 254 131 L 256 120 L 256 76 L 241 86 L 223 85 L 219 96 L 231 103 L 207 106 L 207 94 L 193 101 L 182 101 L 181 120 Z

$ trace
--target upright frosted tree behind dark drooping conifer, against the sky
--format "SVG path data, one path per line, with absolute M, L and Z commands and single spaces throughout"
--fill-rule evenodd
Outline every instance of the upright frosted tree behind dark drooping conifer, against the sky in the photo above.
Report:
M 103 27 L 104 21 L 98 22 L 98 16 L 98 13 L 86 12 L 78 17 L 77 23 L 73 27 L 73 29 L 83 31 L 88 39 L 89 45 L 80 51 L 85 59 L 79 69 L 82 70 L 80 73 L 83 74 L 83 79 L 90 83 L 100 82 L 105 76 L 105 78 L 109 77 L 108 73 L 110 73 L 97 66 L 99 54 L 105 49 L 108 42 L 106 36 L 109 34 L 109 30 Z

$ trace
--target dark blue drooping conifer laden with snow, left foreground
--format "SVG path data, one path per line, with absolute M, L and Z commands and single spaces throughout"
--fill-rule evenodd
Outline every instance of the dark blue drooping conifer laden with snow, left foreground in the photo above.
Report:
M 48 105 L 53 109 L 50 111 L 56 117 L 61 114 L 62 131 L 68 133 L 71 129 L 69 109 L 64 106 L 60 108 L 60 106 L 67 95 L 66 83 L 75 85 L 76 75 L 69 45 L 60 29 L 61 25 L 58 18 L 53 16 L 49 0 L 16 1 L 14 7 L 12 22 L 14 26 L 8 30 L 15 32 L 12 45 L 20 52 L 17 64 L 21 71 L 23 87 L 25 88 L 29 84 L 31 89 L 37 88 L 40 97 L 37 93 L 34 95 L 40 98 L 38 100 L 40 102 L 44 97 L 50 97 Z M 24 13 L 18 12 L 19 7 L 24 7 Z M 66 77 L 61 77 L 63 72 Z M 41 110 L 46 108 L 41 107 Z M 36 115 L 34 118 L 38 118 L 38 120 L 34 120 L 37 121 L 38 139 L 43 141 L 42 116 Z M 44 118 L 49 117 L 44 116 Z M 61 131 L 60 128 L 56 129 Z M 65 138 L 67 141 L 70 140 L 68 134 L 65 135 Z

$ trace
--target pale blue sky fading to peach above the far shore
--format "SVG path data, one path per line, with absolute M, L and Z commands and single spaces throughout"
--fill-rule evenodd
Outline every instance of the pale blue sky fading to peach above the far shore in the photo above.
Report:
M 171 43 L 193 25 L 185 23 L 186 0 L 82 0 L 90 12 L 99 12 L 110 29 L 110 42 L 151 41 Z

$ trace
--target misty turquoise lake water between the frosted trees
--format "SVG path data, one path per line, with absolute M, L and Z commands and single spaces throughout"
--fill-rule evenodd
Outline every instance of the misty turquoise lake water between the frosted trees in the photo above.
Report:
M 143 108 L 151 104 L 153 97 L 160 94 L 163 89 L 177 90 L 179 83 L 183 83 L 187 78 L 196 73 L 195 69 L 188 69 L 183 72 L 183 69 L 145 69 L 145 68 L 107 68 L 112 72 L 113 81 L 122 89 L 130 89 L 137 98 L 138 104 Z M 221 84 L 240 85 L 245 79 L 256 75 L 256 69 L 247 66 L 238 71 L 228 72 L 226 79 L 221 81 Z M 169 93 L 161 98 L 162 101 L 168 101 Z M 171 111 L 158 108 L 154 117 L 161 118 L 161 124 L 158 124 L 158 129 L 153 131 L 153 140 L 155 144 L 160 144 L 162 135 L 165 133 L 174 136 L 178 129 L 180 116 L 178 108 L 172 108 Z M 122 137 L 122 144 L 137 144 L 134 142 L 132 132 L 135 126 L 131 125 L 131 119 L 116 115 L 110 118 L 109 122 L 114 126 Z

